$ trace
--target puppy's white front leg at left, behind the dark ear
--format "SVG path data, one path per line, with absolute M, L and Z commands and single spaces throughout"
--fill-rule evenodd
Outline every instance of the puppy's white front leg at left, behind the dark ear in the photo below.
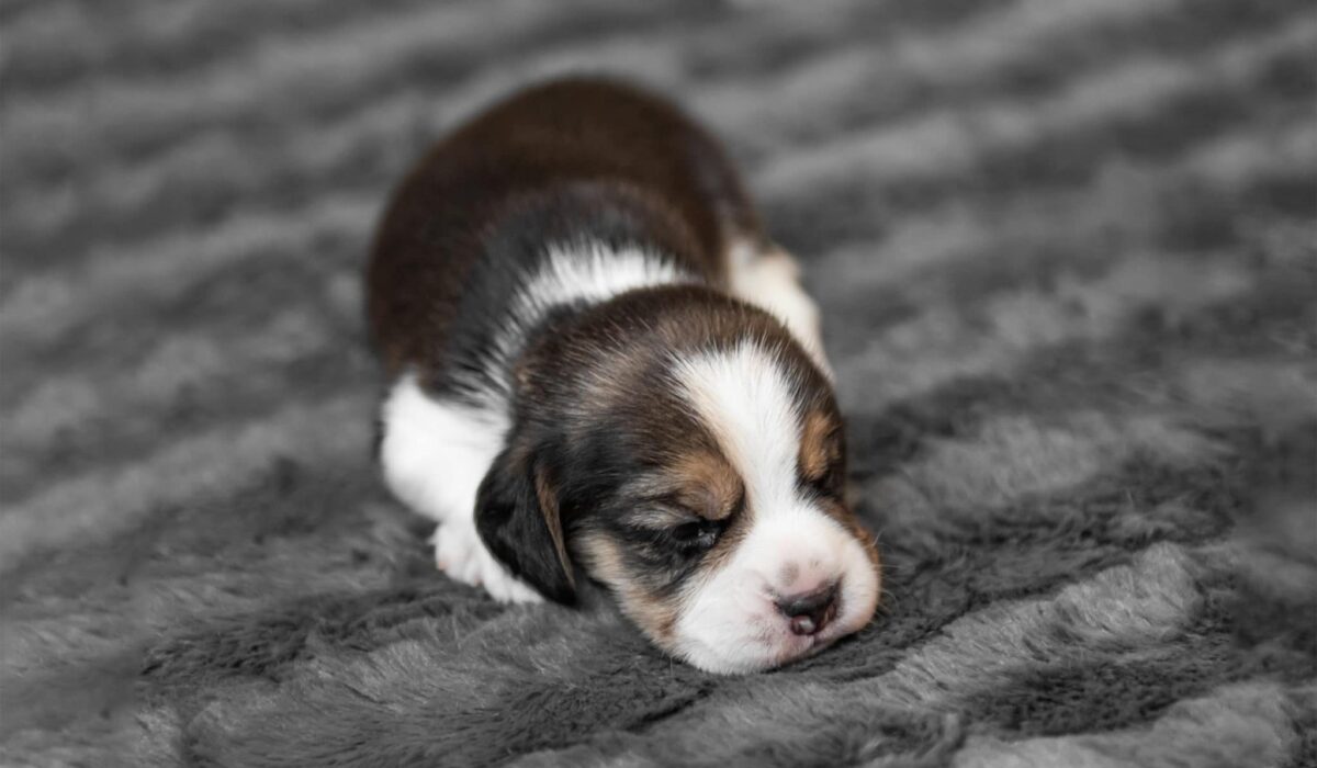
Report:
M 439 523 L 431 543 L 440 570 L 500 602 L 539 602 L 475 532 L 475 491 L 506 431 L 502 415 L 431 398 L 407 374 L 385 400 L 379 462 L 394 495 Z

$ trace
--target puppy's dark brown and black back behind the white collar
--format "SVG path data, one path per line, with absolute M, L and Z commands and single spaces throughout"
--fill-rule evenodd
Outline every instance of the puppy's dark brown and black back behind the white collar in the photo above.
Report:
M 371 332 L 390 371 L 433 370 L 482 341 L 497 323 L 481 315 L 547 245 L 640 245 L 719 285 L 732 237 L 759 223 L 711 137 L 633 87 L 557 80 L 458 128 L 403 182 L 367 273 Z

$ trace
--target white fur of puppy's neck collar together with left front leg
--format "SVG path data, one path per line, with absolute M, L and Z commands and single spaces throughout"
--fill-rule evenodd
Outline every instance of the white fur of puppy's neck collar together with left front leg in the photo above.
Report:
M 630 290 L 686 282 L 672 262 L 640 250 L 614 252 L 601 244 L 556 248 L 543 270 L 518 292 L 486 370 L 502 386 L 470 382 L 478 404 L 425 394 L 414 374 L 402 375 L 383 404 L 381 464 L 385 480 L 407 506 L 439 523 L 435 561 L 452 578 L 483 585 L 503 602 L 540 595 L 504 569 L 475 531 L 475 493 L 503 449 L 511 416 L 502 381 L 528 329 L 553 307 L 605 302 Z

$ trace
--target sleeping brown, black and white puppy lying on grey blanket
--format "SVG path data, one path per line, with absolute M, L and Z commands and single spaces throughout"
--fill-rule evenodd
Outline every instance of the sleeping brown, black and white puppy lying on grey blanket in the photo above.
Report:
M 450 577 L 572 603 L 583 574 L 720 673 L 869 622 L 818 311 L 670 104 L 572 79 L 479 115 L 403 182 L 367 291 L 383 476 Z

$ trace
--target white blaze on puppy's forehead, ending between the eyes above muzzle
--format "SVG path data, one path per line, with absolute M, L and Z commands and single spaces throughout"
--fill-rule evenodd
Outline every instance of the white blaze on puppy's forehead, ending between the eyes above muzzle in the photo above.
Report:
M 756 515 L 795 506 L 801 419 L 782 364 L 756 341 L 678 360 L 673 375 L 745 482 Z

